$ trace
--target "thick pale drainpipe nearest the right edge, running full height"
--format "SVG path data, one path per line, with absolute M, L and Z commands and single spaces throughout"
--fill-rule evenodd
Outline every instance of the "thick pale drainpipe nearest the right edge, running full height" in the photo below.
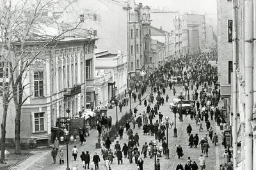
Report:
M 253 169 L 253 0 L 244 1 L 245 169 Z

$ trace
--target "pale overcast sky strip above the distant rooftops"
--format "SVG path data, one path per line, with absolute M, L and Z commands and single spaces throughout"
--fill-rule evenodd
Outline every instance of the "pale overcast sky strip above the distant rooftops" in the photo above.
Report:
M 217 4 L 216 0 L 135 0 L 136 3 L 143 3 L 143 5 L 154 6 L 155 8 L 169 8 L 173 11 L 195 12 L 216 14 Z

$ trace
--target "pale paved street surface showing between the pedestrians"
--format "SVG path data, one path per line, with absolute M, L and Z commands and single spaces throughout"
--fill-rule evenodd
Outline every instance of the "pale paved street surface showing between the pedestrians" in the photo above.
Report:
M 180 89 L 179 89 L 180 88 Z M 176 87 L 177 92 L 179 92 L 179 90 L 181 90 L 181 87 Z M 147 89 L 147 92 L 145 93 L 148 94 L 150 92 L 150 88 Z M 173 99 L 173 93 L 170 90 L 170 88 L 166 89 L 166 94 L 168 94 L 168 96 L 170 97 L 170 101 L 172 101 Z M 143 97 L 145 97 L 145 95 Z M 156 94 L 154 94 L 156 96 Z M 134 106 L 137 106 L 138 103 L 134 103 L 134 101 L 132 100 L 132 108 Z M 138 108 L 138 113 L 143 113 L 143 111 L 145 111 L 145 107 L 143 105 L 141 106 L 137 106 Z M 129 106 L 125 106 L 123 108 L 123 112 L 119 113 L 118 112 L 118 118 L 121 117 L 122 114 L 125 113 L 125 111 L 129 111 Z M 168 103 L 164 103 L 164 106 L 160 106 L 160 110 L 161 113 L 163 113 L 164 117 L 168 116 L 170 117 L 170 120 L 174 122 L 174 114 L 170 111 L 169 108 L 169 102 Z M 116 119 L 115 117 L 115 108 L 113 110 L 109 110 L 108 111 L 108 115 L 111 115 L 111 117 L 113 117 L 113 120 Z M 153 122 L 156 122 L 156 120 L 158 119 L 158 117 L 154 118 Z M 195 120 L 190 120 L 189 115 L 188 116 L 184 116 L 183 117 L 184 121 L 183 122 L 179 122 L 178 118 L 177 118 L 177 134 L 178 134 L 178 138 L 173 138 L 173 128 L 172 129 L 168 129 L 168 147 L 170 149 L 170 159 L 164 159 L 164 157 L 159 158 L 160 159 L 160 163 L 161 163 L 161 169 L 176 169 L 177 164 L 180 162 L 183 166 L 184 164 L 186 164 L 186 161 L 188 159 L 188 157 L 191 157 L 191 160 L 195 160 L 196 162 L 198 162 L 198 158 L 200 157 L 201 154 L 201 149 L 200 147 L 198 148 L 189 148 L 188 146 L 188 134 L 186 134 L 186 127 L 188 126 L 188 124 L 191 124 L 192 126 L 192 133 L 196 134 L 198 133 L 199 139 L 201 139 L 206 133 L 206 127 L 205 127 L 205 122 L 203 122 L 203 128 L 204 130 L 202 132 L 199 132 L 199 127 L 195 124 Z M 113 121 L 115 122 L 115 121 Z M 216 123 L 212 120 L 210 120 L 211 122 L 211 127 L 214 128 L 214 132 L 216 129 Z M 218 127 L 219 129 L 219 127 Z M 218 130 L 217 129 L 217 130 Z M 143 143 L 145 143 L 145 141 L 149 142 L 150 139 L 154 140 L 154 136 L 148 136 L 148 135 L 143 135 L 143 130 L 142 129 L 138 129 L 138 126 L 136 125 L 136 128 L 133 129 L 134 133 L 138 132 L 139 136 L 140 136 L 140 146 L 138 147 L 139 150 L 141 151 L 141 147 L 143 145 Z M 219 130 L 216 132 L 220 132 Z M 125 133 L 124 133 L 124 139 L 119 140 L 119 143 L 121 146 L 123 146 L 123 143 L 128 143 L 127 139 L 125 138 Z M 219 141 L 221 140 L 220 138 L 220 134 L 218 134 L 219 136 Z M 95 149 L 95 143 L 97 143 L 97 131 L 93 130 L 90 134 L 90 137 L 86 138 L 86 143 L 81 146 L 79 143 L 77 143 L 77 147 L 79 150 L 79 154 L 78 154 L 78 158 L 76 161 L 74 161 L 72 154 L 71 154 L 71 149 L 73 145 L 69 145 L 68 146 L 68 151 L 69 151 L 69 164 L 70 167 L 74 167 L 76 166 L 78 169 L 83 169 L 83 164 L 81 163 L 81 159 L 79 158 L 80 154 L 82 151 L 86 151 L 88 150 L 91 154 L 91 160 L 92 160 L 92 155 L 97 152 L 100 155 L 100 149 Z M 176 148 L 177 145 L 181 145 L 183 150 L 184 150 L 184 156 L 181 159 L 177 158 L 177 154 L 176 154 Z M 111 148 L 114 148 L 115 142 L 111 145 Z M 219 157 L 221 156 L 221 153 L 223 153 L 223 150 L 221 150 L 221 148 L 223 148 L 222 146 L 213 146 L 211 141 L 209 141 L 209 157 L 207 157 L 206 160 L 206 169 L 210 170 L 210 169 L 218 169 L 218 164 L 220 164 L 220 160 Z M 219 144 L 220 145 L 220 144 Z M 158 143 L 157 146 L 161 146 L 161 143 Z M 53 164 L 52 162 L 52 157 L 51 157 L 51 153 L 50 151 L 46 151 L 46 152 L 42 152 L 42 151 L 38 151 L 38 153 L 35 151 L 35 155 L 36 157 L 30 157 L 29 159 L 25 160 L 24 162 L 22 162 L 21 164 L 19 164 L 16 167 L 13 167 L 12 169 L 65 169 L 65 167 L 67 167 L 67 159 L 66 159 L 66 147 L 63 147 L 64 150 L 64 158 L 65 158 L 65 164 L 60 165 L 60 164 Z M 100 155 L 100 168 L 99 169 L 106 169 L 103 166 L 103 162 L 102 161 L 102 157 Z M 124 162 L 121 165 L 117 165 L 117 160 L 114 159 L 113 164 L 111 164 L 112 169 L 137 169 L 136 164 L 133 163 L 129 164 L 129 160 L 127 159 L 123 159 Z M 154 159 L 149 159 L 148 157 L 144 160 L 144 169 L 154 169 Z M 57 162 L 58 163 L 58 162 Z M 90 168 L 94 166 L 91 164 Z

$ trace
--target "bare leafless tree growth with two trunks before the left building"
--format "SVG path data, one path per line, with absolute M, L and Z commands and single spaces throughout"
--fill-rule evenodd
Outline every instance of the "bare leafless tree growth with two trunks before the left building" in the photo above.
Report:
M 75 0 L 76 1 L 76 0 Z M 45 60 L 42 53 L 51 50 L 63 36 L 70 31 L 82 29 L 81 23 L 84 19 L 93 18 L 92 14 L 86 13 L 70 23 L 58 22 L 58 16 L 44 17 L 49 10 L 58 10 L 60 13 L 68 10 L 70 4 L 75 1 L 65 0 L 20 0 L 12 4 L 12 0 L 0 0 L 0 47 L 6 51 L 4 55 L 5 65 L 10 70 L 10 82 L 7 86 L 3 84 L 3 122 L 1 124 L 1 162 L 4 162 L 5 150 L 5 124 L 8 111 L 8 103 L 13 99 L 15 104 L 15 153 L 20 154 L 20 117 L 24 102 L 31 94 L 24 95 L 24 89 L 28 84 L 23 83 L 27 69 L 35 60 Z M 64 3 L 65 2 L 65 3 Z M 83 18 L 81 18 L 83 17 Z M 47 34 L 45 27 L 54 25 L 58 32 Z M 40 45 L 31 46 L 31 39 L 44 39 Z M 36 41 L 36 40 L 35 40 Z M 10 88 L 12 87 L 12 88 Z

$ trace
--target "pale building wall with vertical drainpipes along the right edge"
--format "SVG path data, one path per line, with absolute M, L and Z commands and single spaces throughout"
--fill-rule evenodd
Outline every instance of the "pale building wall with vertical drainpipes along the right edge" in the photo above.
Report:
M 256 18 L 256 16 L 253 16 L 256 11 L 253 11 L 252 8 L 253 3 L 256 3 L 256 1 L 237 0 L 235 2 L 237 3 L 237 23 L 236 25 L 232 25 L 230 24 L 230 21 L 228 21 L 233 20 L 232 1 L 218 1 L 219 79 L 222 82 L 221 86 L 228 85 L 228 81 L 230 81 L 231 87 L 234 83 L 237 83 L 237 101 L 234 103 L 237 103 L 237 113 L 239 113 L 236 124 L 238 126 L 238 132 L 237 139 L 233 140 L 236 140 L 237 143 L 241 144 L 241 147 L 238 145 L 237 151 L 233 150 L 233 153 L 238 153 L 237 165 L 234 165 L 234 169 L 256 169 L 256 162 L 253 162 L 253 160 L 256 159 L 256 43 L 254 40 L 255 37 L 253 36 L 253 34 L 256 34 L 256 21 L 255 19 L 253 20 L 253 18 Z M 254 6 L 255 5 L 256 4 L 254 4 Z M 233 27 L 235 26 L 237 28 L 237 41 L 234 41 L 235 39 L 233 38 L 228 38 L 230 34 L 231 36 L 234 34 Z M 251 36 L 246 38 L 250 33 Z M 226 43 L 226 45 L 223 45 L 221 38 L 226 41 L 228 39 L 232 42 L 237 42 L 237 50 L 233 51 L 232 42 L 230 42 L 230 44 Z M 232 52 L 237 53 L 237 62 L 233 61 Z M 225 53 L 227 55 L 225 55 Z M 231 68 L 228 68 L 228 62 L 230 61 L 237 63 L 236 73 L 234 73 L 234 71 L 229 73 Z M 233 64 L 231 64 L 231 66 L 232 65 Z M 233 78 L 230 80 L 230 78 L 228 78 L 230 74 L 236 74 L 237 81 L 232 81 Z M 223 93 L 223 90 L 221 92 Z M 227 95 L 228 93 L 232 94 L 232 90 L 230 90 L 230 92 L 224 92 Z M 235 93 L 231 95 L 231 100 L 234 95 Z M 233 106 L 231 106 L 231 110 L 232 109 Z M 232 113 L 230 116 L 232 117 L 234 114 L 236 113 Z M 233 120 L 233 118 L 230 120 Z M 234 123 L 230 122 L 230 124 L 233 129 Z

